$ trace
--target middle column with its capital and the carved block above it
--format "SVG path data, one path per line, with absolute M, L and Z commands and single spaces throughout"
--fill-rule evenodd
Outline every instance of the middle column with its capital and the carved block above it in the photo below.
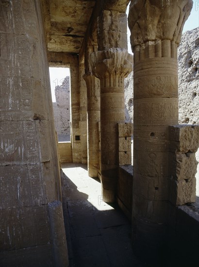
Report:
M 98 17 L 99 51 L 90 54 L 92 71 L 100 80 L 101 183 L 103 200 L 116 200 L 118 134 L 116 124 L 125 121 L 124 78 L 132 71 L 127 50 L 125 13 L 104 10 Z

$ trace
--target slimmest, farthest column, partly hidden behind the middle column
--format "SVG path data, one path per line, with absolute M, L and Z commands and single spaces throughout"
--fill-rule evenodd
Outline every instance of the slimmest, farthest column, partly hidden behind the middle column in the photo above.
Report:
M 97 178 L 99 171 L 99 79 L 97 79 L 91 72 L 86 73 L 83 78 L 87 86 L 88 175 Z

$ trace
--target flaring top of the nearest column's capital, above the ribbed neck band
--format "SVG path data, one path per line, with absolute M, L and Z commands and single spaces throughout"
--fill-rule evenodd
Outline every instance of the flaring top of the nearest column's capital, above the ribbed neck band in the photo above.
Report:
M 129 9 L 132 47 L 152 40 L 170 40 L 179 44 L 192 0 L 138 0 Z

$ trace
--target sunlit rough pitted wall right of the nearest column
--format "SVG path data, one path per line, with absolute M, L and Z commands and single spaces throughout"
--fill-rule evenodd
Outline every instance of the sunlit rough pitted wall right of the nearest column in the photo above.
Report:
M 178 48 L 179 122 L 199 124 L 199 28 L 182 34 Z

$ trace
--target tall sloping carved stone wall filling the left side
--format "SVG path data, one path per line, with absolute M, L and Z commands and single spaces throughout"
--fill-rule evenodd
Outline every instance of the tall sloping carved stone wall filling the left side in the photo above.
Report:
M 0 17 L 0 263 L 68 266 L 40 1 L 0 1 Z

